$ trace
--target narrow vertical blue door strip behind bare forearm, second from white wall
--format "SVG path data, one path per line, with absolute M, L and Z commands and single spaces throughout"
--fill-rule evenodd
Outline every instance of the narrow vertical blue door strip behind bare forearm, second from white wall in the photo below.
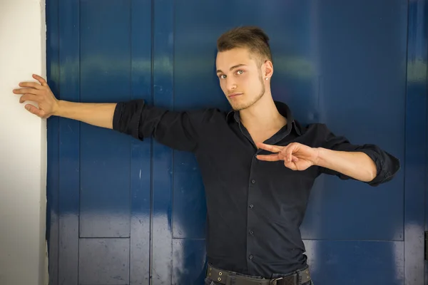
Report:
M 58 2 L 59 90 L 61 100 L 80 101 L 79 1 Z M 58 284 L 78 283 L 78 211 L 80 188 L 80 124 L 59 118 L 59 252 Z

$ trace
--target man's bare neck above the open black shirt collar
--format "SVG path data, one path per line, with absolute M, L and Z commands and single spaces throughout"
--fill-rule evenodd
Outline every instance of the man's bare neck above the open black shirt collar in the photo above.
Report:
M 270 94 L 263 95 L 249 108 L 240 110 L 240 119 L 245 128 L 256 131 L 278 129 L 287 124 L 287 119 L 278 112 Z

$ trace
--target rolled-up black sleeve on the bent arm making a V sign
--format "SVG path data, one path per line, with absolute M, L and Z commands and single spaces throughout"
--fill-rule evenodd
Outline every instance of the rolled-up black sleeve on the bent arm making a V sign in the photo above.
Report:
M 367 182 L 368 185 L 378 186 L 384 182 L 388 182 L 389 180 L 392 180 L 394 175 L 396 175 L 400 169 L 400 163 L 397 157 L 394 157 L 388 152 L 382 150 L 377 145 L 354 145 L 344 136 L 333 134 L 328 130 L 326 125 L 321 125 L 321 134 L 322 138 L 324 138 L 321 147 L 347 152 L 364 152 L 374 161 L 377 168 L 377 175 L 372 181 Z M 352 177 L 348 177 L 347 175 L 343 175 L 340 172 L 336 172 L 335 170 L 330 170 L 325 167 L 320 167 L 320 171 L 328 175 L 336 175 L 342 180 L 353 179 Z

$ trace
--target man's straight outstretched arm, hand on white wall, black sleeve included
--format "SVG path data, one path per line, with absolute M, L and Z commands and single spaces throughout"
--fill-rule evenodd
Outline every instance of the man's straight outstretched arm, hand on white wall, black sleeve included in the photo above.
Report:
M 198 146 L 202 125 L 215 110 L 174 112 L 147 105 L 144 100 L 119 103 L 74 103 L 58 100 L 51 88 L 40 76 L 33 76 L 39 83 L 19 83 L 15 94 L 24 94 L 20 103 L 33 101 L 39 105 L 26 104 L 26 109 L 40 118 L 57 115 L 79 120 L 83 123 L 109 128 L 132 135 L 138 140 L 153 136 L 158 142 L 176 150 L 193 151 Z

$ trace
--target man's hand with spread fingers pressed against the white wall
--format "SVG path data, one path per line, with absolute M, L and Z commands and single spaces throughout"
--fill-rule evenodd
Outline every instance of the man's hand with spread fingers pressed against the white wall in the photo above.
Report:
M 59 104 L 48 83 L 46 83 L 44 78 L 35 74 L 33 78 L 39 81 L 39 83 L 22 82 L 19 83 L 19 86 L 22 88 L 14 89 L 15 94 L 24 94 L 19 99 L 19 103 L 24 103 L 25 101 L 36 102 L 39 108 L 31 104 L 26 104 L 25 108 L 40 118 L 49 118 L 51 115 L 56 115 Z

